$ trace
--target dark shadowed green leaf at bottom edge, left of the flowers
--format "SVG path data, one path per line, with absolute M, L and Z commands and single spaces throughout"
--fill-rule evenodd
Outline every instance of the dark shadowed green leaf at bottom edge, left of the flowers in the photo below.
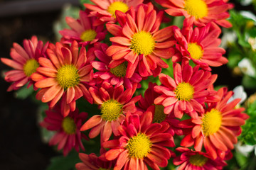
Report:
M 53 157 L 50 162 L 47 170 L 73 170 L 75 169 L 75 164 L 81 161 L 78 157 L 78 152 L 73 151 L 67 157 Z

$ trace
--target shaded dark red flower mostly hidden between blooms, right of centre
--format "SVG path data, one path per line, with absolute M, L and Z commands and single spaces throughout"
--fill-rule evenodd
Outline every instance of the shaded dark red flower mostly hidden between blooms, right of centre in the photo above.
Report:
M 168 132 L 171 133 L 171 135 L 182 135 L 182 130 L 178 126 L 179 120 L 174 118 L 174 116 L 166 115 L 164 113 L 164 106 L 154 104 L 154 99 L 160 96 L 160 94 L 154 91 L 154 86 L 157 86 L 157 84 L 149 82 L 149 88 L 146 89 L 144 97 L 142 96 L 139 100 L 137 109 L 143 112 L 151 111 L 153 115 L 152 123 L 169 123 L 170 127 Z

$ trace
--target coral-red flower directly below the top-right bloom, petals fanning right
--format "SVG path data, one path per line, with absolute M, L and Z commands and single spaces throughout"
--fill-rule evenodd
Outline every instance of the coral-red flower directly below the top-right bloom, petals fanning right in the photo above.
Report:
M 186 58 L 209 71 L 211 70 L 209 66 L 218 67 L 226 64 L 228 60 L 222 56 L 225 50 L 218 47 L 221 42 L 218 38 L 220 33 L 221 30 L 210 23 L 205 27 L 196 27 L 194 30 L 191 27 L 184 34 L 178 27 L 174 27 L 174 37 L 177 40 L 176 48 L 181 55 L 174 55 L 173 62 L 181 62 L 183 58 Z

